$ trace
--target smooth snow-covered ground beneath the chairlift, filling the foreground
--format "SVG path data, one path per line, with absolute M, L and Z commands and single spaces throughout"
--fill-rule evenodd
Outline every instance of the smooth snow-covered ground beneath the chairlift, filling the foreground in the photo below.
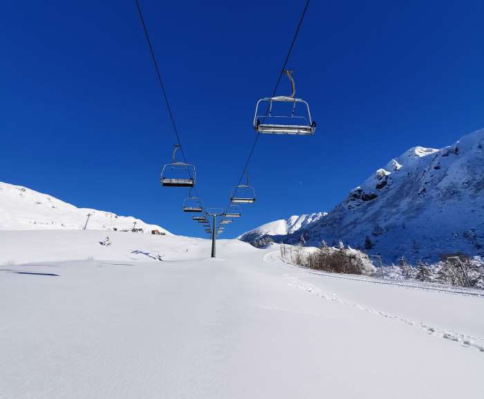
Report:
M 0 232 L 0 398 L 484 397 L 483 297 L 109 236 Z

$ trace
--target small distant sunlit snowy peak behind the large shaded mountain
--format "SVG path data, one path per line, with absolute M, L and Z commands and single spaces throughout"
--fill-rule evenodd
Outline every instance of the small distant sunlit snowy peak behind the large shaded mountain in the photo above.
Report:
M 261 239 L 263 236 L 292 234 L 301 228 L 308 227 L 308 225 L 314 223 L 315 221 L 319 221 L 319 219 L 321 219 L 323 216 L 326 216 L 326 214 L 326 212 L 317 212 L 307 215 L 302 214 L 301 216 L 290 216 L 289 219 L 280 219 L 278 221 L 261 225 L 254 230 L 250 230 L 249 232 L 245 232 L 241 236 L 238 236 L 237 239 L 245 242 L 252 242 L 254 240 Z

